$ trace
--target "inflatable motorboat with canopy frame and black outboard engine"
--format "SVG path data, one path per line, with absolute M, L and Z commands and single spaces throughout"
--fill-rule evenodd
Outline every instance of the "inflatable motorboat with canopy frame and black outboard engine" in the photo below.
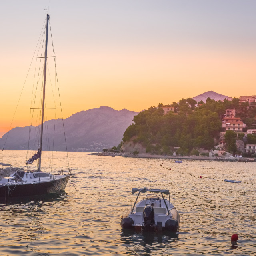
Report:
M 124 229 L 134 228 L 137 231 L 162 230 L 177 232 L 180 225 L 180 215 L 170 202 L 169 190 L 132 188 L 132 195 L 138 192 L 131 210 L 121 218 L 121 227 Z M 145 194 L 144 199 L 138 203 L 140 194 Z M 164 198 L 169 196 L 169 200 Z

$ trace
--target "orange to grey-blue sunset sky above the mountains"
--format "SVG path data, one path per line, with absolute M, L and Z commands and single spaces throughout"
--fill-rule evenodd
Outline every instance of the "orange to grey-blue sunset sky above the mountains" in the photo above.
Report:
M 100 106 L 140 111 L 209 90 L 256 94 L 255 0 L 8 0 L 0 8 L 0 138 L 10 127 L 44 9 L 50 9 L 64 118 Z M 29 124 L 26 97 L 12 127 Z

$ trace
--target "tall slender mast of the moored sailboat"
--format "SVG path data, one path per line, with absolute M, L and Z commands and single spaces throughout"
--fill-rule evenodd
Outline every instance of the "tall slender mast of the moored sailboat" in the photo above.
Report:
M 43 86 L 43 98 L 42 98 L 42 120 L 41 120 L 41 132 L 40 132 L 40 150 L 42 150 L 43 141 L 43 128 L 44 128 L 44 100 L 45 100 L 45 84 L 46 84 L 46 67 L 47 67 L 47 44 L 48 44 L 48 25 L 49 14 L 46 16 L 46 36 L 45 36 L 45 52 L 44 52 L 44 86 Z M 38 171 L 41 171 L 41 156 L 38 161 Z

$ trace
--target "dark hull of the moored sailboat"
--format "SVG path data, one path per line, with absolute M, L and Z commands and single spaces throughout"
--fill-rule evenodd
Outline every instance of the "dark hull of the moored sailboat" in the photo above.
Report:
M 12 198 L 56 193 L 66 188 L 69 178 L 70 175 L 67 175 L 56 180 L 45 182 L 0 185 L 0 197 Z

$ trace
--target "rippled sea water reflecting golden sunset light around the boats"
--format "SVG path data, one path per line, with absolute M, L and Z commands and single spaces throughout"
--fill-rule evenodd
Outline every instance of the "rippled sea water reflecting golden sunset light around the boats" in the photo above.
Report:
M 66 153 L 53 153 L 52 168 L 58 172 L 67 165 Z M 1 162 L 22 166 L 26 152 L 6 150 L 0 157 Z M 64 192 L 0 204 L 0 255 L 256 254 L 254 162 L 174 163 L 69 152 L 69 164 L 76 175 Z M 121 217 L 131 208 L 132 188 L 143 187 L 170 190 L 180 213 L 179 232 L 121 229 Z M 230 241 L 234 233 L 239 236 L 236 244 Z

